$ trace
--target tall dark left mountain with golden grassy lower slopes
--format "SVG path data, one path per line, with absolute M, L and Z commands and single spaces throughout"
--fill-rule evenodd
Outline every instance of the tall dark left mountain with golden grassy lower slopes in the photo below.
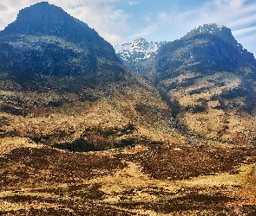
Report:
M 20 10 L 0 32 L 0 91 L 2 138 L 108 149 L 168 127 L 157 90 L 94 29 L 45 2 Z

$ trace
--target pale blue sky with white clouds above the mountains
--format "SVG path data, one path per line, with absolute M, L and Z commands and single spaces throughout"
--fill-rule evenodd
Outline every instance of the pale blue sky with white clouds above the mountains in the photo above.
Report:
M 45 1 L 45 0 L 44 0 Z M 0 0 L 0 30 L 37 0 Z M 256 0 L 49 0 L 86 22 L 113 46 L 143 37 L 174 41 L 197 26 L 217 23 L 256 57 Z

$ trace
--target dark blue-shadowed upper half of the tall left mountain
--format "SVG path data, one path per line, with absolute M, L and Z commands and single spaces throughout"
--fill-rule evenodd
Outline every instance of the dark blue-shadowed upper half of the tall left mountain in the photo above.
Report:
M 121 71 L 114 48 L 94 29 L 45 2 L 20 10 L 0 32 L 0 56 L 0 67 L 20 78 Z

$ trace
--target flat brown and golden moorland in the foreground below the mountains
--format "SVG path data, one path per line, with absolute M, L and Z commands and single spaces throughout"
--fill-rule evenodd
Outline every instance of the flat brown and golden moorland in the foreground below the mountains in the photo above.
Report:
M 9 137 L 0 154 L 1 215 L 256 213 L 252 147 L 141 141 L 79 153 Z

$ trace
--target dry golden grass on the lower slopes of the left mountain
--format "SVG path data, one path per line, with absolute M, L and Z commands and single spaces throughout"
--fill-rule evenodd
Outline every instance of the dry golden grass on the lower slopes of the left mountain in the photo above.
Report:
M 0 113 L 0 118 L 8 121 L 1 125 L 0 133 L 3 137 L 30 137 L 36 143 L 71 143 L 89 127 L 122 127 L 132 123 L 138 128 L 137 136 L 155 138 L 157 141 L 161 141 L 161 137 L 170 139 L 167 135 L 167 117 L 160 112 L 168 112 L 168 106 L 152 86 L 143 85 L 145 88 L 137 84 L 129 87 L 110 85 L 110 98 L 106 98 L 102 91 L 85 88 L 84 92 L 100 97 L 95 101 L 81 101 L 75 93 L 2 91 L 5 96 L 26 102 L 21 107 L 16 105 L 25 115 Z M 50 102 L 58 101 L 66 102 L 56 107 L 47 106 Z M 137 110 L 137 105 L 149 107 L 143 113 Z

